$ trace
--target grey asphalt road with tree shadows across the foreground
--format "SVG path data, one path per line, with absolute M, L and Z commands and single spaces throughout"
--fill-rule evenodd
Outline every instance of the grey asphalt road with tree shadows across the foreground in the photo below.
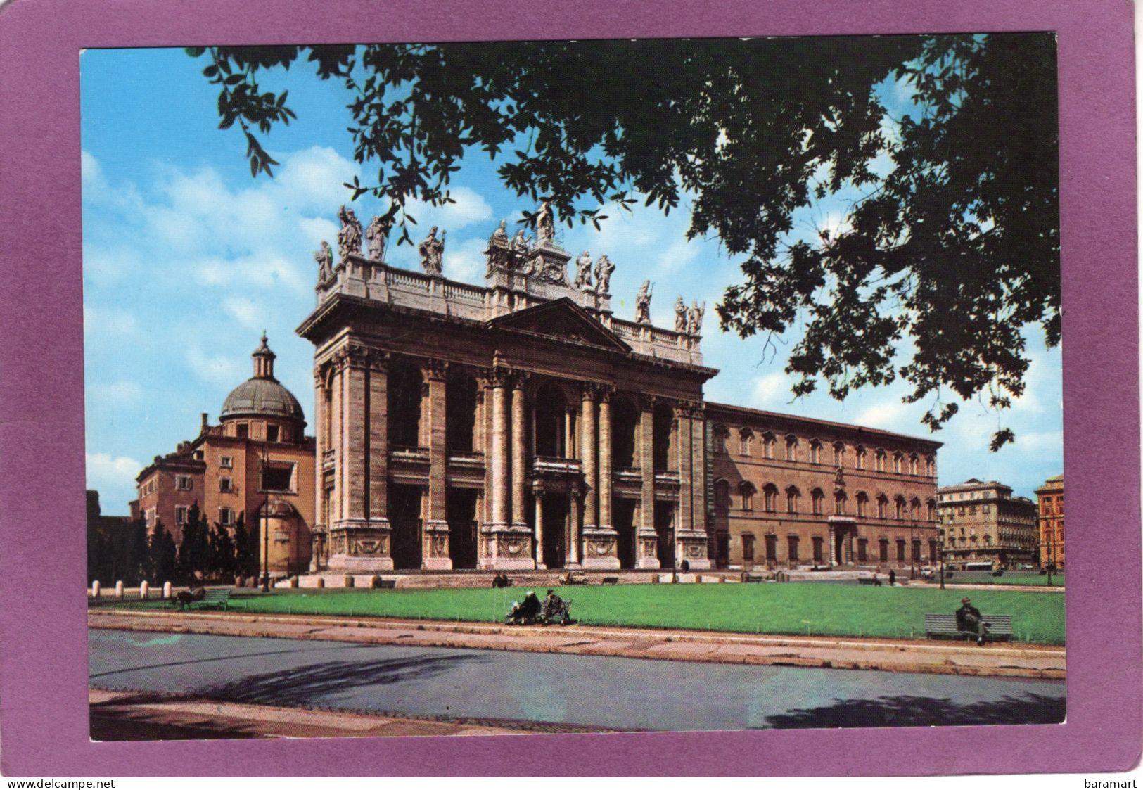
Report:
M 93 686 L 621 729 L 1052 724 L 1064 683 L 88 631 Z

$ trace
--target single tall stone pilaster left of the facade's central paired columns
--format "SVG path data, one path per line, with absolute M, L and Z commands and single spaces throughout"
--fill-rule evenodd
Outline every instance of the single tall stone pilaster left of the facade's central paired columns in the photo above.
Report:
M 421 373 L 429 384 L 429 397 L 425 399 L 427 414 L 421 415 L 429 434 L 429 490 L 423 520 L 421 567 L 427 570 L 451 570 L 448 521 L 445 519 L 448 493 L 448 448 L 445 444 L 448 362 L 431 359 L 422 366 Z

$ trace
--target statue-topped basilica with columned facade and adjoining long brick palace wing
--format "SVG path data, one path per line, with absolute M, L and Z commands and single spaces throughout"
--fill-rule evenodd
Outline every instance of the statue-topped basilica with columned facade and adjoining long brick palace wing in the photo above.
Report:
M 504 223 L 485 284 L 367 253 L 341 212 L 315 254 L 312 570 L 838 565 L 936 553 L 940 442 L 705 402 L 703 308 L 612 310 L 606 255 L 576 261 L 550 208 Z M 569 264 L 572 273 L 569 274 Z

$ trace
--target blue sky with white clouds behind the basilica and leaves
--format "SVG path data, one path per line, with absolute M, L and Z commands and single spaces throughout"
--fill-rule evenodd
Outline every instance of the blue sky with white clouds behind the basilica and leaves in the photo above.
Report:
M 134 478 L 152 456 L 197 434 L 199 413 L 217 421 L 226 393 L 251 375 L 249 354 L 263 329 L 278 354 L 278 378 L 312 414 L 312 346 L 294 334 L 314 305 L 312 250 L 322 239 L 336 247 L 337 207 L 350 197 L 342 184 L 369 175 L 352 159 L 343 89 L 296 69 L 288 85 L 298 119 L 263 139 L 281 166 L 273 179 L 250 178 L 241 133 L 217 128 L 216 93 L 202 66 L 181 49 L 87 50 L 80 58 L 87 486 L 99 490 L 107 513 L 127 511 Z M 908 111 L 895 86 L 882 95 L 890 110 Z M 496 224 L 535 207 L 505 190 L 482 154 L 463 162 L 453 197 L 455 205 L 410 213 L 418 229 L 448 231 L 445 274 L 479 284 Z M 794 234 L 837 228 L 845 197 L 801 212 Z M 354 210 L 368 223 L 379 206 L 366 195 Z M 902 382 L 845 402 L 824 393 L 792 401 L 783 368 L 797 329 L 776 353 L 764 338 L 721 333 L 713 305 L 741 281 L 738 261 L 716 239 L 686 240 L 686 200 L 665 217 L 652 208 L 605 213 L 602 231 L 563 229 L 565 247 L 615 262 L 613 308 L 621 318 L 633 317 L 634 293 L 648 278 L 656 325 L 673 326 L 677 295 L 706 302 L 703 353 L 721 370 L 708 399 L 928 436 L 919 423 L 925 404 L 903 404 Z M 391 247 L 387 260 L 417 268 L 408 246 Z M 1032 364 L 1024 397 L 999 415 L 977 401 L 961 404 L 935 434 L 945 442 L 941 485 L 998 479 L 1032 496 L 1063 470 L 1060 349 L 1045 350 L 1037 328 L 1026 334 Z M 1000 424 L 1017 440 L 989 453 Z

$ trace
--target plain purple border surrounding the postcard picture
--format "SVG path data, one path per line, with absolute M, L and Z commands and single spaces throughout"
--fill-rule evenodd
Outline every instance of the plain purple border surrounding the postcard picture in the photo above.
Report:
M 1132 22 L 1122 0 L 13 0 L 0 9 L 0 769 L 837 776 L 1128 768 L 1140 755 L 1143 708 Z M 1005 30 L 1057 31 L 1060 41 L 1066 724 L 993 726 L 986 737 L 973 727 L 545 735 L 559 753 L 582 756 L 554 764 L 520 750 L 523 736 L 88 740 L 86 604 L 75 583 L 85 573 L 81 48 Z

